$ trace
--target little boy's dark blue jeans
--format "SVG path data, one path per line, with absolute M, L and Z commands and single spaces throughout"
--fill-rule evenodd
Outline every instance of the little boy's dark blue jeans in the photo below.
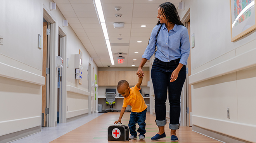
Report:
M 137 137 L 137 132 L 135 131 L 135 129 L 136 129 L 136 123 L 138 123 L 139 128 L 137 131 L 140 133 L 139 136 L 142 135 L 145 137 L 144 134 L 146 133 L 146 129 L 145 129 L 146 113 L 147 113 L 147 109 L 145 109 L 142 112 L 131 112 L 128 126 L 130 129 L 130 134 L 132 136 Z

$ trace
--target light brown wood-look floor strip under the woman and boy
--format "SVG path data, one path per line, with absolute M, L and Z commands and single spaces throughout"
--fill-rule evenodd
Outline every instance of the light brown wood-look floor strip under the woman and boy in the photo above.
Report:
M 120 112 L 108 112 L 93 119 L 92 121 L 70 131 L 67 134 L 57 138 L 50 143 L 124 143 L 123 141 L 108 141 L 107 127 L 118 120 Z M 128 126 L 130 112 L 125 112 L 122 123 Z M 155 123 L 155 117 L 147 112 L 145 141 L 132 140 L 131 143 L 170 143 L 170 129 L 165 125 L 166 138 L 159 141 L 151 141 L 158 128 Z M 137 125 L 138 127 L 138 125 Z M 199 133 L 192 131 L 191 127 L 180 127 L 176 132 L 179 140 L 172 143 L 221 143 Z M 130 136 L 130 134 L 129 134 Z M 126 141 L 127 142 L 127 141 Z

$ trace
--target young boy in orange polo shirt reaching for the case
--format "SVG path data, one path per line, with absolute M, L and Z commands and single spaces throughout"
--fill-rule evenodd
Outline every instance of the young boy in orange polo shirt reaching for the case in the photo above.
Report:
M 119 116 L 118 121 L 115 121 L 115 124 L 121 123 L 121 119 L 123 117 L 123 114 L 125 113 L 125 109 L 127 105 L 131 106 L 131 114 L 130 114 L 130 121 L 129 121 L 129 129 L 131 136 L 129 137 L 129 140 L 136 140 L 137 139 L 137 132 L 136 129 L 136 123 L 138 123 L 138 133 L 139 134 L 139 140 L 145 140 L 145 119 L 146 119 L 146 113 L 147 113 L 147 105 L 145 104 L 145 101 L 140 94 L 140 85 L 142 83 L 142 78 L 139 78 L 138 83 L 135 85 L 135 87 L 130 88 L 129 83 L 126 80 L 121 80 L 118 82 L 117 90 L 118 93 L 121 94 L 124 97 L 123 101 L 123 107 L 121 109 L 121 113 Z

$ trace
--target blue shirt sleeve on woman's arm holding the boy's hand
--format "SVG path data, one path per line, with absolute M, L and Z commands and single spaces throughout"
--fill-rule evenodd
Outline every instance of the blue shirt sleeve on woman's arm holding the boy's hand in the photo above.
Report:
M 154 54 L 156 48 L 156 32 L 156 27 L 154 27 L 150 35 L 149 44 L 147 45 L 147 48 L 145 49 L 144 54 L 142 55 L 142 58 L 149 60 L 151 56 Z

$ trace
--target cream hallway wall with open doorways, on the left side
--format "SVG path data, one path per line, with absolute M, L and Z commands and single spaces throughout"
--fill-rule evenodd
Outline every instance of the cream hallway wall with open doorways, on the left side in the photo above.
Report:
M 0 36 L 3 37 L 3 45 L 0 45 L 0 142 L 7 142 L 21 138 L 29 134 L 41 131 L 42 115 L 42 54 L 38 48 L 38 34 L 43 35 L 43 11 L 48 12 L 55 21 L 55 35 L 51 41 L 52 64 L 50 92 L 50 112 L 52 123 L 57 126 L 57 68 L 55 68 L 55 56 L 57 56 L 59 28 L 66 34 L 66 54 L 63 58 L 63 68 L 66 70 L 62 80 L 65 86 L 63 97 L 67 98 L 66 117 L 75 117 L 88 113 L 90 98 L 89 83 L 87 80 L 90 55 L 76 36 L 70 26 L 63 27 L 63 15 L 57 10 L 50 10 L 51 0 L 0 0 Z M 74 54 L 83 52 L 83 83 L 79 84 L 74 75 Z M 67 68 L 67 59 L 69 67 Z M 97 74 L 97 65 L 90 61 Z M 67 88 L 66 88 L 67 86 Z M 73 112 L 72 112 L 73 111 Z M 50 121 L 51 122 L 51 121 Z M 31 130 L 29 130 L 31 129 Z M 16 133 L 24 131 L 26 134 Z M 23 133 L 24 133 L 23 132 Z M 6 135 L 9 135 L 8 138 Z M 16 136 L 16 137 L 15 137 Z M 14 137 L 10 139 L 9 137 Z M 5 140 L 2 140 L 5 139 Z

